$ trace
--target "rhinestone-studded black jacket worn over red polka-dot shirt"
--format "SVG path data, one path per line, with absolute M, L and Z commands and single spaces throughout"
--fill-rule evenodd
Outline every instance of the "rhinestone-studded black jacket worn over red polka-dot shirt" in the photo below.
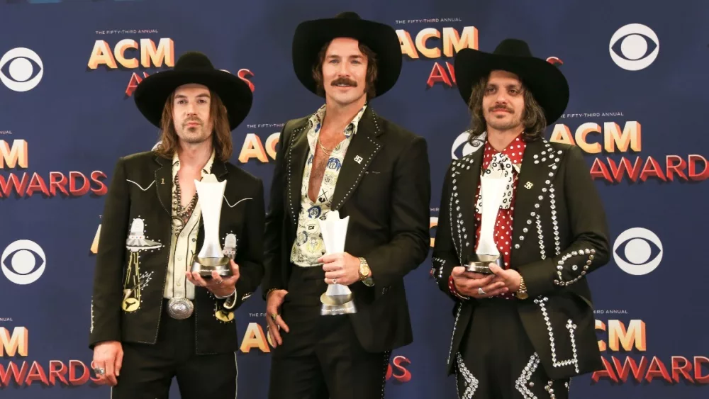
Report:
M 452 268 L 474 253 L 474 200 L 483 152 L 481 147 L 454 160 L 445 176 L 433 251 L 434 276 L 445 293 Z M 516 303 L 547 375 L 558 379 L 602 369 L 584 277 L 608 262 L 608 227 L 579 147 L 527 143 L 513 218 L 510 267 L 523 276 L 529 293 Z M 456 303 L 449 372 L 478 301 L 450 297 Z

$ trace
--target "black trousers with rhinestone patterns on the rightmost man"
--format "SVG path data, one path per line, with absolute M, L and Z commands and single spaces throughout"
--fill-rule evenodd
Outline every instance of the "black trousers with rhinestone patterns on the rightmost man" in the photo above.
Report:
M 527 337 L 513 299 L 478 301 L 456 356 L 461 399 L 568 399 L 569 379 L 552 381 Z

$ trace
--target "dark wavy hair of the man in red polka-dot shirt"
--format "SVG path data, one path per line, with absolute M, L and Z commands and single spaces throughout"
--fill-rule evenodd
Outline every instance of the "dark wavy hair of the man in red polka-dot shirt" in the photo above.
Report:
M 473 91 L 470 95 L 468 108 L 471 114 L 470 136 L 468 141 L 471 145 L 479 144 L 482 139 L 481 135 L 487 130 L 487 123 L 483 114 L 483 96 L 485 88 L 488 84 L 488 78 L 480 79 L 473 86 Z M 525 127 L 522 133 L 522 140 L 531 142 L 544 137 L 545 129 L 547 128 L 547 118 L 544 116 L 544 108 L 539 105 L 537 100 L 532 95 L 524 83 L 522 83 L 522 92 L 525 99 L 525 109 L 522 115 L 522 124 Z

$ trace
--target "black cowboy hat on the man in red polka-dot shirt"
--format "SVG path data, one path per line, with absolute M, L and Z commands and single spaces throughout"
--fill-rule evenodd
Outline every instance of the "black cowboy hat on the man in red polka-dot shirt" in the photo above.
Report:
M 454 62 L 455 79 L 466 104 L 474 84 L 493 70 L 512 72 L 520 77 L 544 108 L 547 125 L 552 125 L 564 113 L 569 103 L 569 84 L 564 74 L 546 60 L 532 57 L 529 45 L 518 39 L 503 40 L 492 53 L 471 48 L 458 52 Z

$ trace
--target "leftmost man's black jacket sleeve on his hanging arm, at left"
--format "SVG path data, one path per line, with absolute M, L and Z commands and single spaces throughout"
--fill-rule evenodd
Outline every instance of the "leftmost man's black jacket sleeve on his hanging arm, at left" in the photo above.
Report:
M 99 252 L 96 254 L 91 296 L 91 349 L 99 342 L 121 340 L 122 280 L 130 210 L 130 192 L 125 178 L 125 161 L 121 158 L 113 170 L 101 216 Z

